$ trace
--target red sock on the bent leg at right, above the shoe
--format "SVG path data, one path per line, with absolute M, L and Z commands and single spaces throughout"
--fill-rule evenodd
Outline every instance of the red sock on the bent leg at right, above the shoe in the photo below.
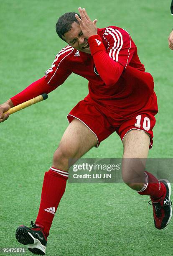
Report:
M 157 200 L 162 197 L 166 192 L 165 185 L 160 182 L 153 174 L 150 172 L 145 173 L 145 183 L 140 191 L 137 191 L 140 195 L 150 195 L 153 200 Z

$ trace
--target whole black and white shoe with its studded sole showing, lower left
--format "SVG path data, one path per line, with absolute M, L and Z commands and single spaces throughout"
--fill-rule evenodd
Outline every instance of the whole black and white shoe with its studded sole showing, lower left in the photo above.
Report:
M 15 232 L 19 243 L 27 244 L 28 250 L 37 255 L 45 255 L 47 238 L 43 230 L 31 221 L 31 228 L 20 225 Z

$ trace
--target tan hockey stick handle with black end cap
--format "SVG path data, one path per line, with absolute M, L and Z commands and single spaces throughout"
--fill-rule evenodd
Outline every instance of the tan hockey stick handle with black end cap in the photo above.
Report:
M 6 113 L 10 113 L 10 115 L 11 115 L 11 114 L 13 114 L 15 112 L 18 112 L 19 110 L 21 110 L 23 108 L 27 108 L 27 107 L 29 107 L 29 106 L 31 106 L 33 104 L 36 104 L 37 102 L 40 102 L 42 100 L 46 100 L 47 98 L 48 98 L 48 95 L 46 93 L 43 93 L 43 94 L 41 94 L 41 95 L 31 99 L 31 100 L 25 101 L 25 102 L 15 106 L 15 107 L 13 107 L 13 108 L 10 108 L 8 111 L 3 113 L 3 116 Z

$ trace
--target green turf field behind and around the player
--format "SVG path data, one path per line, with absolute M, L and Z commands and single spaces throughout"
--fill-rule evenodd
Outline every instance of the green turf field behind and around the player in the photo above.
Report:
M 93 20 L 98 19 L 98 27 L 125 28 L 137 44 L 158 95 L 159 113 L 149 157 L 173 157 L 173 51 L 167 42 L 173 26 L 170 2 L 0 0 L 0 103 L 44 75 L 66 45 L 55 31 L 58 17 L 85 7 Z M 66 115 L 87 92 L 87 81 L 72 74 L 48 100 L 0 124 L 1 248 L 21 247 L 15 229 L 36 219 L 44 172 L 51 166 L 53 152 L 68 125 Z M 116 134 L 85 155 L 121 156 L 122 143 Z M 46 255 L 171 256 L 173 221 L 168 228 L 156 230 L 148 197 L 137 195 L 125 184 L 68 184 Z

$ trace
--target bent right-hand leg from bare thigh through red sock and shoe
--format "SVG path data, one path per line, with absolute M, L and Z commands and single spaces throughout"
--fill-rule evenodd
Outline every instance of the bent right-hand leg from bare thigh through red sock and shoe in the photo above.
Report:
M 145 171 L 149 144 L 150 137 L 144 131 L 131 130 L 126 134 L 123 139 L 122 179 L 140 195 L 150 195 L 155 227 L 163 229 L 172 216 L 171 189 L 168 181 L 159 181 Z

